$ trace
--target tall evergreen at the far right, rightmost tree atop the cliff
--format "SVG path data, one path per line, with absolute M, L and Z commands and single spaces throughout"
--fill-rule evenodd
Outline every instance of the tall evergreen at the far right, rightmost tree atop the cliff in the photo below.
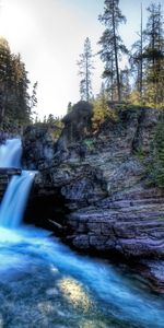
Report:
M 161 4 L 151 3 L 148 8 L 149 17 L 144 31 L 145 60 L 144 93 L 150 106 L 164 105 L 164 30 Z

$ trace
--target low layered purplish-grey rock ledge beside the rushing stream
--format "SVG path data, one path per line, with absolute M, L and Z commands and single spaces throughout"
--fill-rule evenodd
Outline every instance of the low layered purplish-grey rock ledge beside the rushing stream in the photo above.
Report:
M 129 258 L 164 258 L 164 197 L 150 189 L 131 188 L 71 214 L 72 243 Z M 144 194 L 144 197 L 143 197 Z M 87 236 L 87 238 L 85 238 Z

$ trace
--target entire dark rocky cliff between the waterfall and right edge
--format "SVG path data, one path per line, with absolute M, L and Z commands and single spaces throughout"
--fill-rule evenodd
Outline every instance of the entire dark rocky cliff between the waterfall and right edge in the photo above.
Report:
M 119 110 L 117 119 L 108 118 L 95 134 L 91 133 L 91 117 L 90 112 L 86 133 L 85 118 L 82 120 L 82 138 L 78 133 L 78 112 L 65 118 L 61 137 L 50 145 L 50 157 L 43 155 L 37 164 L 33 195 L 37 199 L 60 195 L 65 219 L 58 220 L 54 211 L 50 220 L 63 226 L 65 239 L 78 249 L 162 262 L 164 192 L 148 184 L 160 113 L 141 108 Z M 34 143 L 27 140 L 28 133 L 24 163 L 31 168 L 37 157 L 34 144 L 44 153 L 43 139 Z M 52 204 L 57 210 L 61 206 L 58 201 Z

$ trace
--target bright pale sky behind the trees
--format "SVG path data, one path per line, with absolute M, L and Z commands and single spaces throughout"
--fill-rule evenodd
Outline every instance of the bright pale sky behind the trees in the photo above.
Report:
M 143 11 L 150 2 L 142 0 Z M 98 50 L 104 27 L 97 16 L 104 0 L 0 0 L 0 34 L 12 51 L 21 52 L 30 80 L 38 81 L 38 115 L 65 115 L 68 103 L 80 98 L 77 60 L 84 39 L 89 36 L 93 50 Z M 137 38 L 140 5 L 138 0 L 120 0 L 127 16 L 121 34 L 128 47 Z M 103 69 L 99 60 L 95 68 L 96 94 Z

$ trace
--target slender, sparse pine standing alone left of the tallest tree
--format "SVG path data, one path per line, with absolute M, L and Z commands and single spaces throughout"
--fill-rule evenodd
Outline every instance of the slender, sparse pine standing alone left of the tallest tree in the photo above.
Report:
M 84 51 L 80 55 L 80 60 L 78 61 L 80 68 L 79 74 L 81 75 L 80 81 L 80 95 L 82 101 L 90 102 L 92 98 L 92 72 L 93 72 L 93 55 L 91 48 L 90 38 L 86 37 L 84 42 Z

